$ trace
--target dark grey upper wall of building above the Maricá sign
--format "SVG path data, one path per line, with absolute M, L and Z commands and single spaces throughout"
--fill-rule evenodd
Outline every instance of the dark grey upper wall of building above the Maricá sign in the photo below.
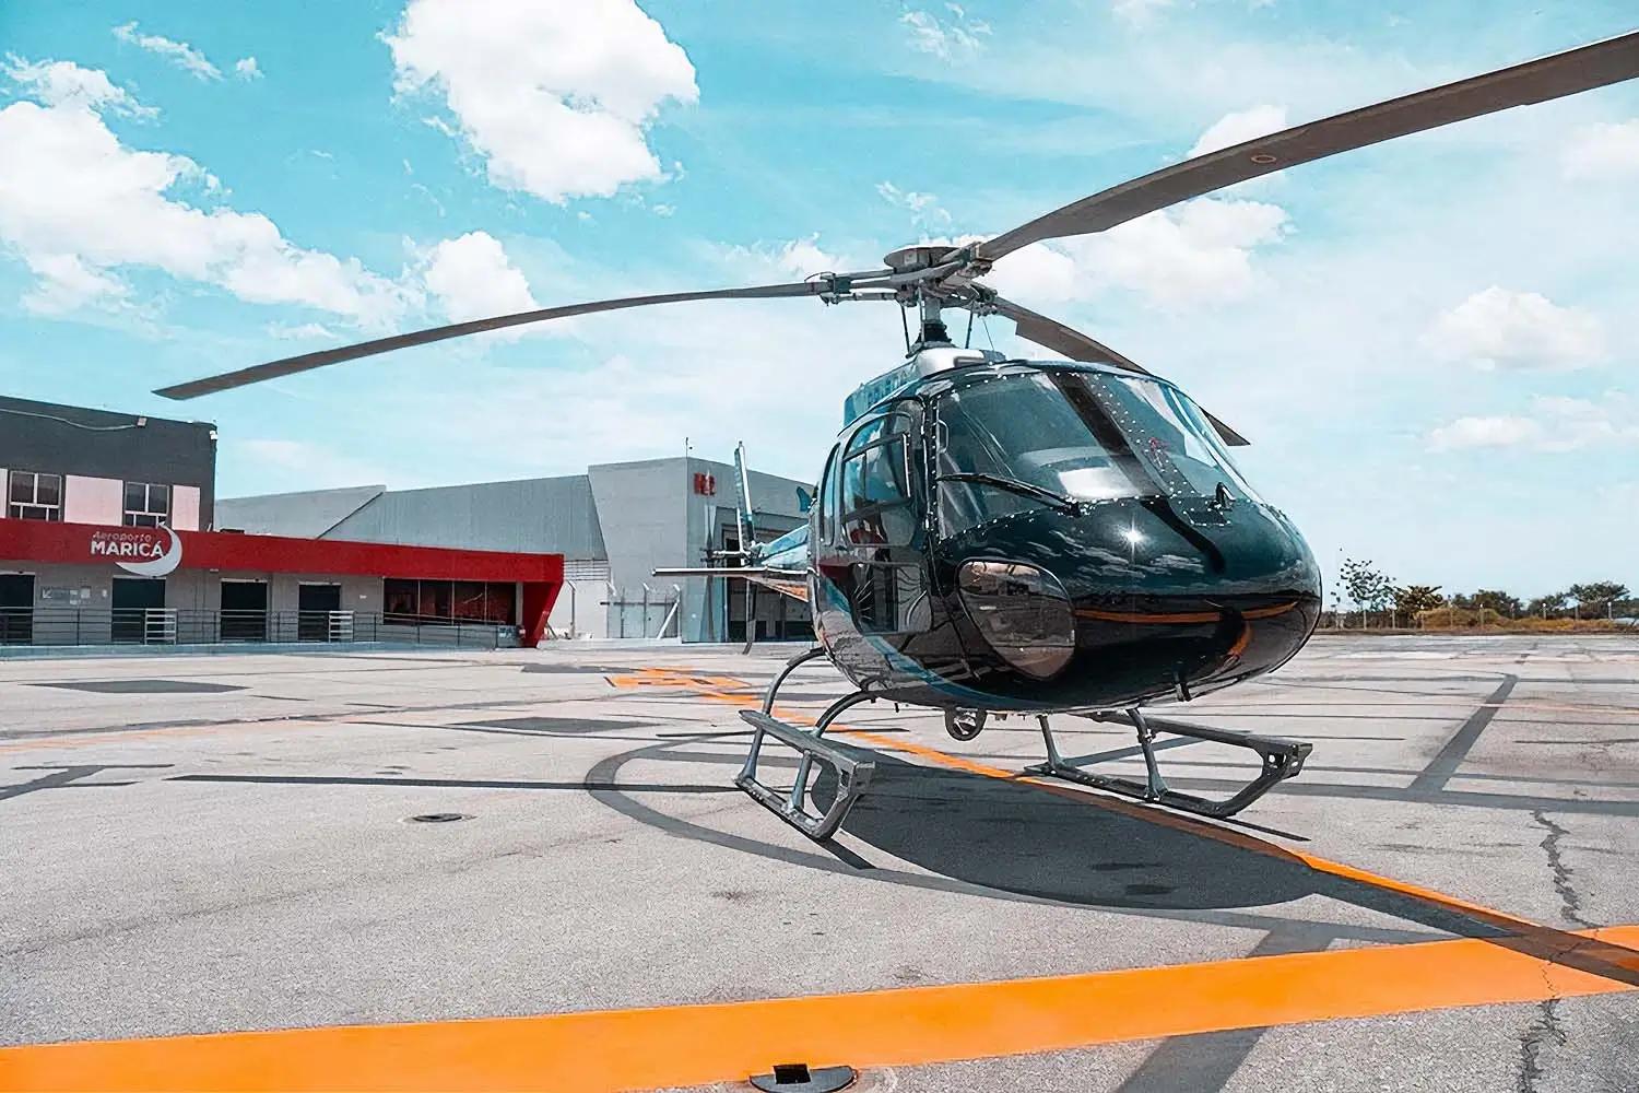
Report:
M 198 487 L 207 524 L 216 500 L 215 436 L 202 421 L 0 397 L 0 467 Z

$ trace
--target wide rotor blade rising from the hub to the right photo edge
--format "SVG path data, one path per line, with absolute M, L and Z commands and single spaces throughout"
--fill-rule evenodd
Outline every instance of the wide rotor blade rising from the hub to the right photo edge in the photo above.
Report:
M 1577 95 L 1634 77 L 1639 77 L 1639 31 L 1392 98 L 1375 107 L 1362 107 L 1162 167 L 980 243 L 974 247 L 974 257 L 993 262 L 1031 243 L 1106 231 L 1157 208 L 1336 152 L 1498 110 Z

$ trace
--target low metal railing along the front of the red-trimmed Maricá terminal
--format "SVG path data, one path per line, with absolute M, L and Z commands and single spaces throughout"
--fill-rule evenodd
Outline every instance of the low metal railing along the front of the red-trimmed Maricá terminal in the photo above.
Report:
M 449 649 L 518 644 L 513 626 L 372 611 L 0 608 L 0 646 L 390 642 Z

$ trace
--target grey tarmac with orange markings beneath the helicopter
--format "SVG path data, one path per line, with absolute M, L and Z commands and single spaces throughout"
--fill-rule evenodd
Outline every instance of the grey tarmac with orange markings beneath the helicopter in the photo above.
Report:
M 1167 708 L 1313 741 L 1246 824 L 857 706 L 833 844 L 733 787 L 797 651 L 0 660 L 0 1088 L 1639 1088 L 1639 639 L 1323 636 Z

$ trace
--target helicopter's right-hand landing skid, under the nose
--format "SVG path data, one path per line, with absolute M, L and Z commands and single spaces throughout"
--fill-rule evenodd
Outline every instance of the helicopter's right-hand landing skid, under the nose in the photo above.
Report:
M 1133 726 L 1137 731 L 1137 746 L 1144 755 L 1144 782 L 1123 778 L 1119 775 L 1093 773 L 1087 770 L 1082 760 L 1064 759 L 1059 755 L 1059 747 L 1052 739 L 1052 728 L 1047 724 L 1046 716 L 1041 716 L 1039 721 L 1042 741 L 1047 744 L 1047 762 L 1026 767 L 1024 773 L 1064 778 L 1065 782 L 1090 785 L 1095 790 L 1108 790 L 1110 793 L 1121 793 L 1123 796 L 1134 796 L 1141 801 L 1165 805 L 1167 808 L 1195 813 L 1196 816 L 1211 816 L 1214 819 L 1234 816 L 1242 808 L 1269 793 L 1277 782 L 1283 782 L 1296 775 L 1303 770 L 1303 760 L 1308 759 L 1310 752 L 1314 749 L 1314 746 L 1306 741 L 1288 741 L 1280 736 L 1259 736 L 1255 732 L 1239 732 L 1236 729 L 1214 729 L 1210 724 L 1195 724 L 1190 721 L 1164 721 L 1160 718 L 1147 718 L 1137 710 L 1128 710 L 1124 713 L 1100 711 L 1078 716 L 1090 718 L 1093 721 L 1111 721 Z M 1262 769 L 1257 777 L 1246 783 L 1237 793 L 1221 801 L 1195 796 L 1193 793 L 1180 793 L 1178 790 L 1169 788 L 1167 780 L 1160 777 L 1160 767 L 1155 764 L 1155 732 L 1172 732 L 1174 736 L 1211 741 L 1213 744 L 1247 747 L 1259 754 Z

